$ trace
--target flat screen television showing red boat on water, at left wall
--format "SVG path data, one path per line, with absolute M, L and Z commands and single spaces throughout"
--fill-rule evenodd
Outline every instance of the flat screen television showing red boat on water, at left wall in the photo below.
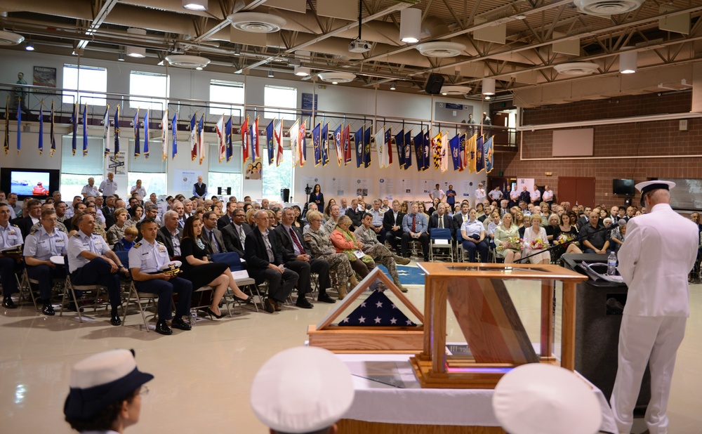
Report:
M 18 199 L 27 197 L 46 198 L 59 189 L 58 169 L 20 169 L 4 167 L 0 172 L 0 189 L 15 193 Z

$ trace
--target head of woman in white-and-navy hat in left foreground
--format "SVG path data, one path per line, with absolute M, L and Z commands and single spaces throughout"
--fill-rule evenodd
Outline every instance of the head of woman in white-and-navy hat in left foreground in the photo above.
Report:
M 81 433 L 118 434 L 139 421 L 144 383 L 154 378 L 139 371 L 130 350 L 91 355 L 71 369 L 71 390 L 63 414 Z

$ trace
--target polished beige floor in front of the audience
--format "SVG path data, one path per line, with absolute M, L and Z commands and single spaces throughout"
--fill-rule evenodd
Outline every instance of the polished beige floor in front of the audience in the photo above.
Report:
M 409 289 L 409 298 L 423 310 L 423 286 Z M 510 293 L 534 336 L 538 288 L 510 285 Z M 671 434 L 702 433 L 702 285 L 691 286 L 690 293 L 691 315 L 670 398 Z M 267 433 L 249 407 L 253 375 L 279 350 L 302 345 L 307 326 L 331 308 L 315 302 L 311 310 L 287 306 L 274 315 L 237 309 L 233 317 L 202 318 L 192 331 L 175 330 L 173 336 L 146 333 L 138 313 L 128 315 L 126 327 L 110 327 L 105 313 L 88 311 L 84 315 L 94 320 L 79 324 L 74 313 L 46 317 L 31 304 L 2 309 L 0 432 L 72 432 L 62 414 L 71 365 L 102 350 L 133 348 L 140 369 L 156 378 L 148 384 L 140 422 L 127 433 Z M 453 318 L 447 330 L 449 341 L 463 340 Z M 641 427 L 637 421 L 634 432 L 641 433 Z

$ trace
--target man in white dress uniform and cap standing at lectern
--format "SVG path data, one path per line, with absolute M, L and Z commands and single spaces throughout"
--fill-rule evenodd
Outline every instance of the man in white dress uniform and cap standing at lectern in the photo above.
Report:
M 675 355 L 689 316 L 687 273 L 697 256 L 697 225 L 670 208 L 675 183 L 639 183 L 641 205 L 651 212 L 632 218 L 619 249 L 618 270 L 628 285 L 619 329 L 619 360 L 610 399 L 621 433 L 629 433 L 641 379 L 649 364 L 651 434 L 668 433 L 668 397 Z

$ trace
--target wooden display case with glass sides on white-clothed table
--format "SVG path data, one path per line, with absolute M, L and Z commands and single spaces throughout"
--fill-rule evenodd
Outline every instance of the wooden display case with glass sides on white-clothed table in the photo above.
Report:
M 586 276 L 558 265 L 419 263 L 425 271 L 424 345 L 410 362 L 424 388 L 494 388 L 513 367 L 557 363 L 553 345 L 553 289 L 563 283 L 561 366 L 575 360 L 576 284 Z M 541 281 L 541 348 L 536 354 L 505 280 Z M 471 357 L 446 355 L 446 301 Z

